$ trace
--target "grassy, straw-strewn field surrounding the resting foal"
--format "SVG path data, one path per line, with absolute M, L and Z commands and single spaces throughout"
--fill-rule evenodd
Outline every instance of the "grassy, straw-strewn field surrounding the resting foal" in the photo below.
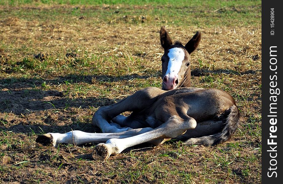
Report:
M 96 143 L 35 142 L 100 132 L 95 111 L 161 88 L 159 30 L 192 53 L 192 86 L 235 98 L 241 124 L 213 147 L 168 141 L 94 161 Z M 0 1 L 0 183 L 261 183 L 261 1 Z M 126 115 L 129 113 L 125 113 Z

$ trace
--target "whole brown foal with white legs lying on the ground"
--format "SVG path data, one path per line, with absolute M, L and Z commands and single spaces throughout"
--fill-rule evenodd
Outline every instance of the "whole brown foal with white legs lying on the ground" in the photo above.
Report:
M 160 39 L 164 48 L 162 90 L 145 88 L 113 105 L 99 108 L 92 122 L 103 133 L 47 133 L 39 136 L 37 142 L 54 146 L 106 142 L 94 148 L 93 158 L 107 159 L 144 142 L 158 145 L 175 138 L 188 145 L 215 145 L 229 140 L 239 123 L 239 111 L 231 95 L 219 89 L 186 87 L 190 86 L 189 54 L 197 48 L 200 33 L 183 46 L 179 42 L 172 44 L 162 27 Z M 132 111 L 131 115 L 120 115 L 126 111 Z

